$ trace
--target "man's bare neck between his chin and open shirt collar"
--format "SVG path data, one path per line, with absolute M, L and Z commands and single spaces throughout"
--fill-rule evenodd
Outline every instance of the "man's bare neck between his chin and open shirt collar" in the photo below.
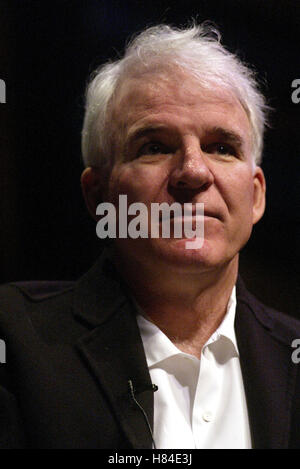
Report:
M 238 256 L 213 271 L 197 273 L 153 272 L 133 259 L 120 262 L 119 255 L 116 265 L 144 315 L 180 350 L 199 358 L 226 314 Z

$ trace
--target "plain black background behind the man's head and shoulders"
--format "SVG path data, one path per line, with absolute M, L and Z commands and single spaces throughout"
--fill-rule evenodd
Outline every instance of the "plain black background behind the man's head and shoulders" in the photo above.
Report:
M 241 255 L 248 287 L 291 315 L 299 311 L 300 2 L 1 1 L 0 282 L 75 279 L 101 242 L 80 174 L 83 95 L 91 71 L 126 40 L 161 22 L 211 20 L 223 43 L 254 65 L 275 108 L 262 167 L 267 209 Z

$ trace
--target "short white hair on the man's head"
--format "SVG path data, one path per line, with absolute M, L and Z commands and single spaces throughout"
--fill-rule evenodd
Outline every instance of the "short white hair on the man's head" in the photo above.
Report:
M 266 106 L 254 71 L 220 42 L 220 33 L 208 23 L 186 29 L 159 25 L 146 29 L 127 46 L 124 57 L 98 68 L 87 87 L 82 130 L 86 166 L 113 164 L 109 104 L 125 79 L 142 73 L 179 67 L 196 77 L 202 88 L 224 89 L 245 109 L 252 129 L 253 161 L 260 164 Z

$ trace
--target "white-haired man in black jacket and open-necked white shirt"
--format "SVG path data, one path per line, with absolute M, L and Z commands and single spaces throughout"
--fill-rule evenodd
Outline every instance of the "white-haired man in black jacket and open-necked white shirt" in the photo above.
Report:
M 251 71 L 205 26 L 150 28 L 95 73 L 91 215 L 126 195 L 149 226 L 152 204 L 188 203 L 195 227 L 204 204 L 204 237 L 187 249 L 198 233 L 176 237 L 188 217 L 171 215 L 168 237 L 162 219 L 158 237 L 114 234 L 75 284 L 2 287 L 2 447 L 299 447 L 300 325 L 238 277 L 265 208 L 265 110 Z

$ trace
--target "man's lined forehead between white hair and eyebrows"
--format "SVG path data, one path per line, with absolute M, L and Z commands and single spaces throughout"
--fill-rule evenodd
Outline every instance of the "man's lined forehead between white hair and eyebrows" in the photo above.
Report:
M 203 88 L 183 72 L 125 80 L 113 102 L 113 122 L 125 134 L 141 125 L 163 123 L 197 132 L 205 127 L 224 127 L 245 141 L 251 139 L 248 116 L 235 96 L 217 86 Z

